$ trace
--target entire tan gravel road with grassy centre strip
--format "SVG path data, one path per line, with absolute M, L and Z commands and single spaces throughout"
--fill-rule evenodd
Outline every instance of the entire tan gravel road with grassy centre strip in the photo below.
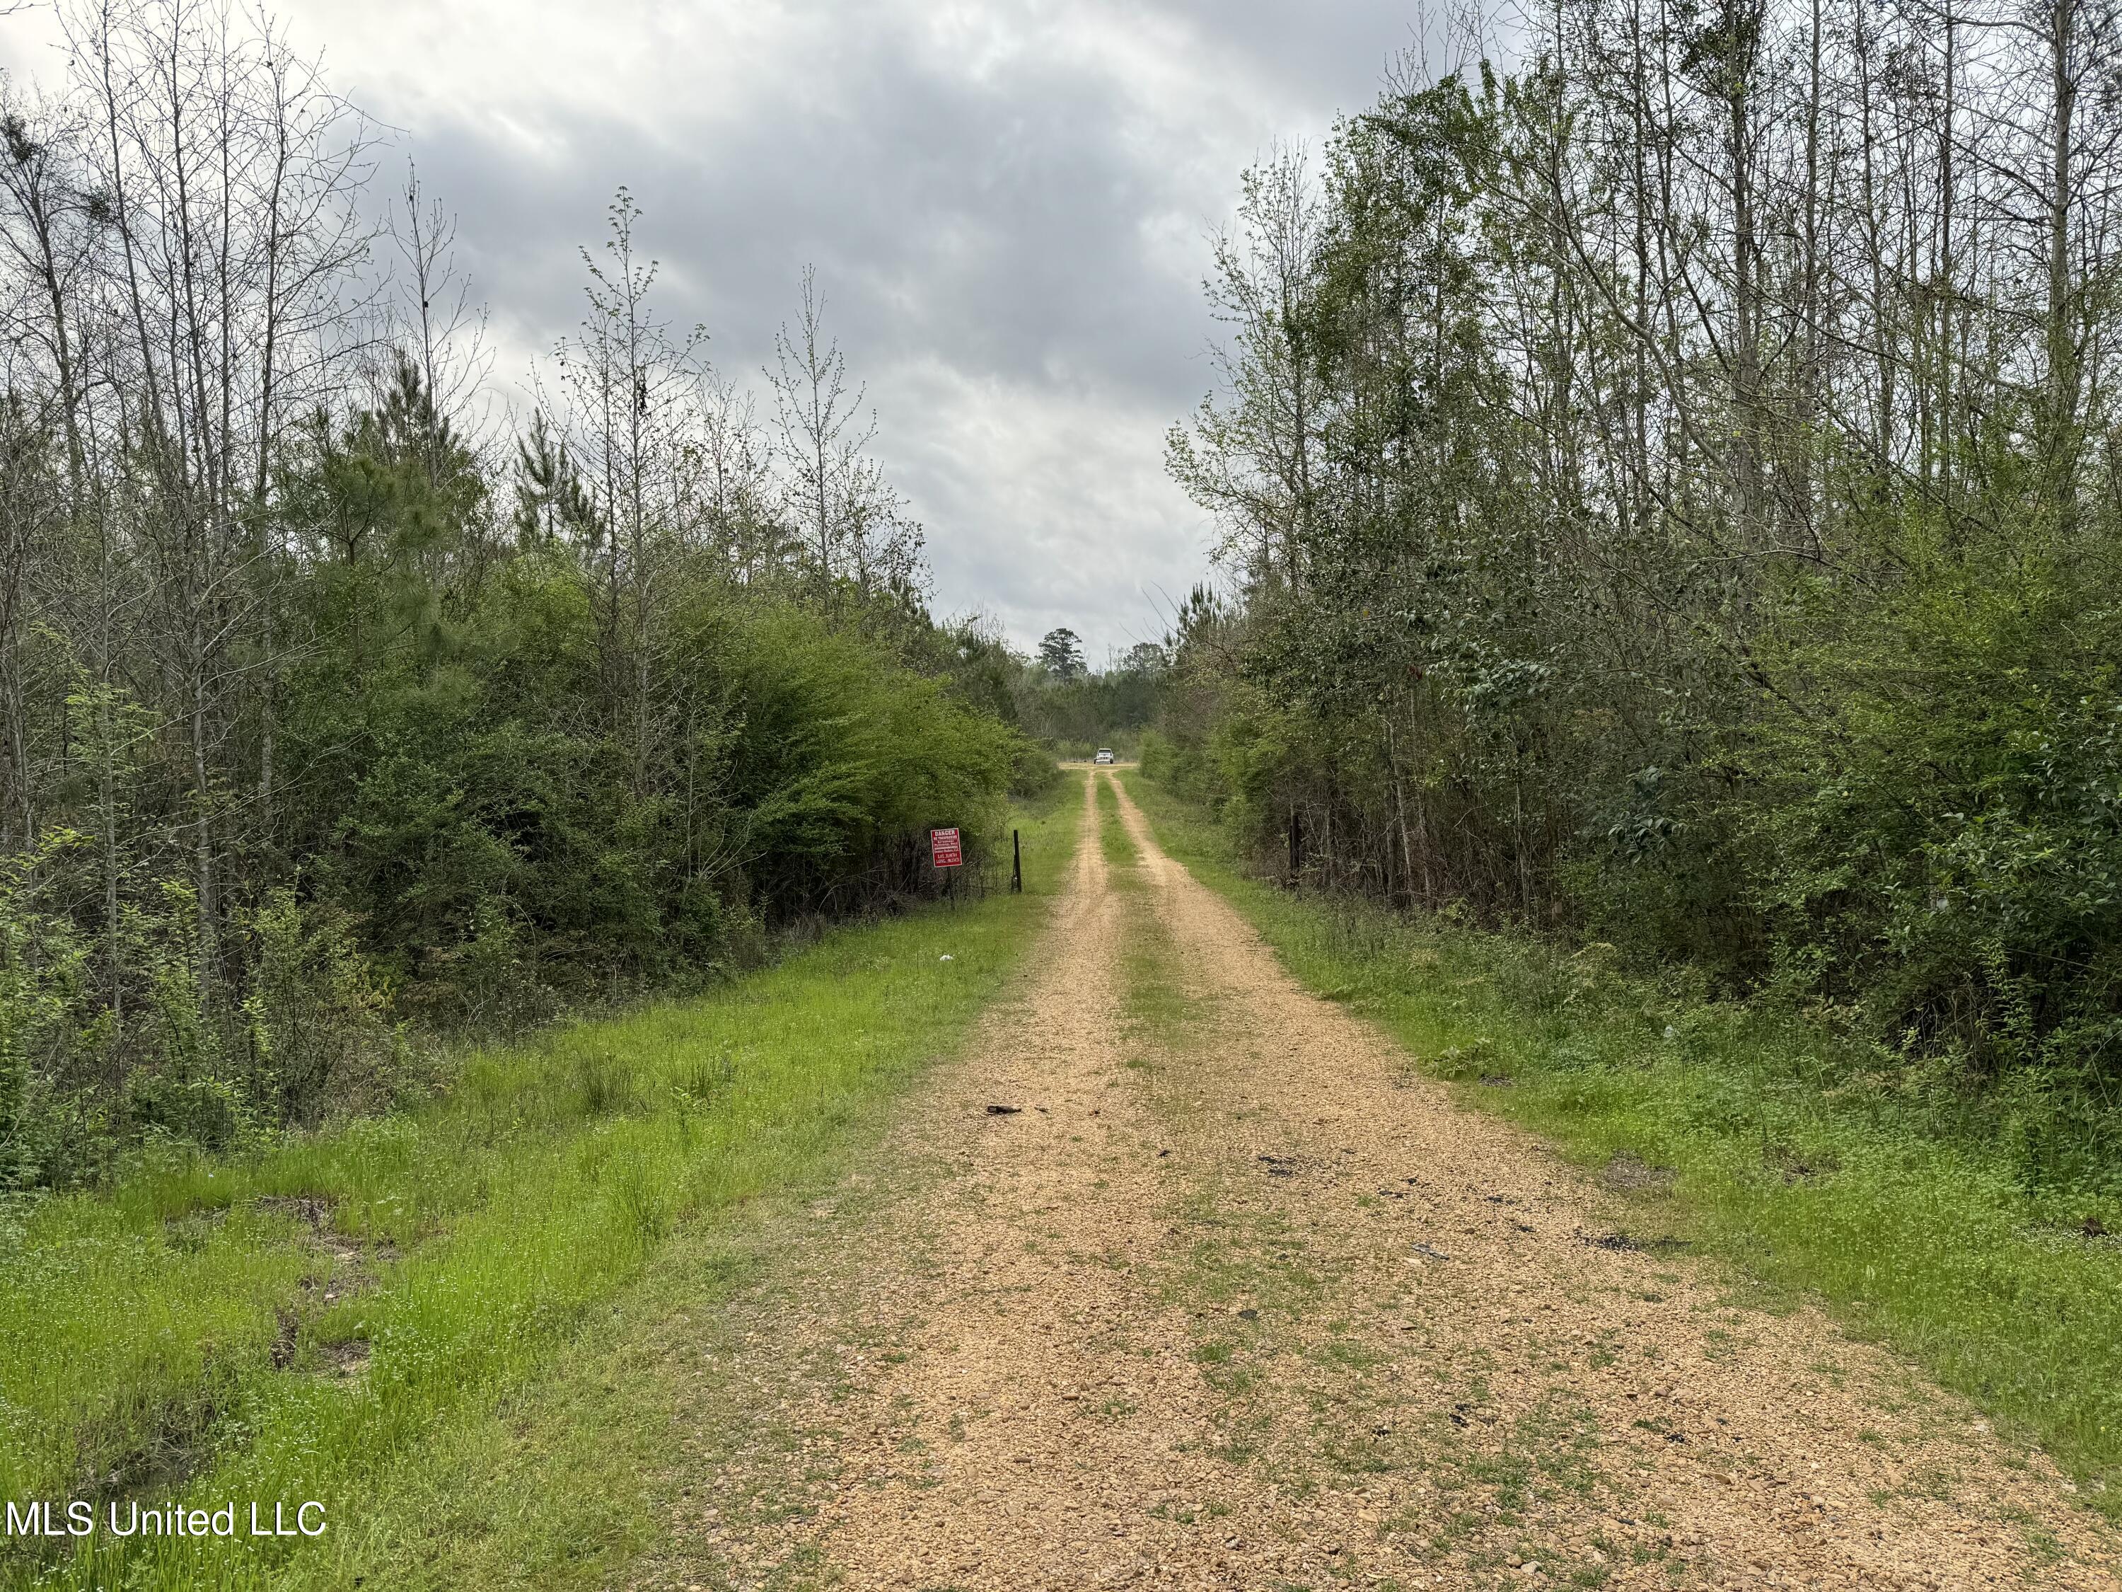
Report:
M 1655 1193 L 1458 1110 L 1120 811 L 779 1305 L 785 1507 L 705 1496 L 668 1584 L 2116 1586 L 2039 1454 L 1621 1240 Z

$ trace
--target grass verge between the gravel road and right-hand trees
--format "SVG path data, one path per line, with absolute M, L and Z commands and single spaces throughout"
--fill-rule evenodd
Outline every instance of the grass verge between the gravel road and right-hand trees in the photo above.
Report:
M 2080 1229 L 2122 1231 L 2103 1197 L 2029 1191 L 2010 1144 L 1937 1136 L 1891 1076 L 1793 1015 L 1685 1000 L 1596 951 L 1290 896 L 1246 877 L 1199 811 L 1127 779 L 1165 849 L 1301 983 L 1572 1159 L 1668 1167 L 1700 1246 L 1823 1299 L 2122 1516 L 2122 1244 Z

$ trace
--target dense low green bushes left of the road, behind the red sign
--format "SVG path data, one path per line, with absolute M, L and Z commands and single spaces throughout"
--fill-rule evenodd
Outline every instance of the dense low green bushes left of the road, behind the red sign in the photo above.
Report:
M 605 713 L 573 563 L 514 560 L 441 637 L 316 647 L 278 703 L 303 777 L 276 866 L 238 875 L 212 938 L 191 877 L 149 866 L 108 921 L 102 832 L 55 828 L 15 858 L 0 1189 L 93 1180 L 127 1140 L 223 1150 L 390 1108 L 435 1083 L 422 1032 L 709 983 L 819 917 L 932 896 L 929 828 L 961 828 L 982 866 L 1008 792 L 1057 779 L 906 660 L 927 656 L 902 645 L 906 613 L 881 637 L 711 571 L 675 592 L 645 756 Z M 340 571 L 301 596 L 359 592 Z

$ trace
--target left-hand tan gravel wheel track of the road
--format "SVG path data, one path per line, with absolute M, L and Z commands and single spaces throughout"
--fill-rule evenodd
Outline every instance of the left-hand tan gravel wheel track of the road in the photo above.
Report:
M 842 1586 L 1086 1588 L 1180 1564 L 1199 1569 L 1176 1584 L 1237 1584 L 1214 1579 L 1216 1535 L 1144 1509 L 1241 1477 L 1207 1454 L 1214 1392 L 1152 1280 L 1171 1231 L 1159 1127 L 1125 1083 L 1129 902 L 1084 796 L 1040 970 L 921 1112 L 923 1150 L 959 1174 L 927 1212 L 921 1325 L 847 1452 L 825 1547 Z

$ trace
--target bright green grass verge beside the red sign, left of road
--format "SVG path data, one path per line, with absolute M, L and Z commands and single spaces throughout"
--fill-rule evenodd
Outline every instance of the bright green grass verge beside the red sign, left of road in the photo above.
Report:
M 1078 800 L 1067 781 L 1019 819 L 1033 902 Z M 401 1586 L 482 1499 L 471 1537 L 543 1543 L 541 1586 L 626 1552 L 654 1522 L 609 1460 L 660 1420 L 624 1373 L 628 1322 L 711 1301 L 713 1231 L 828 1174 L 959 1042 L 1046 921 L 1033 902 L 840 930 L 715 996 L 473 1057 L 424 1112 L 38 1206 L 0 1267 L 0 1496 L 316 1499 L 333 1524 L 314 1545 L 115 1539 L 98 1503 L 95 1535 L 53 1545 L 70 1558 L 0 1539 L 0 1584 Z M 522 1446 L 541 1422 L 543 1456 Z

